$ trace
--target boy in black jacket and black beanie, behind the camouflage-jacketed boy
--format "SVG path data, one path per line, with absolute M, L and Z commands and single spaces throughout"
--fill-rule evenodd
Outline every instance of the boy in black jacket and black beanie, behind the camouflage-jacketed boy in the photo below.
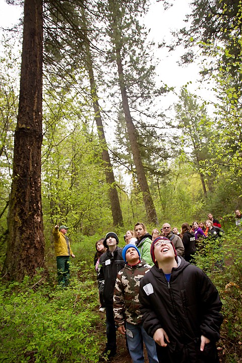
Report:
M 113 292 L 118 271 L 125 267 L 122 257 L 122 249 L 117 247 L 118 237 L 116 233 L 106 234 L 103 245 L 108 249 L 100 257 L 100 271 L 97 276 L 98 288 L 103 292 L 106 307 L 106 347 L 99 357 L 99 361 L 106 361 L 116 354 L 116 327 L 113 315 Z

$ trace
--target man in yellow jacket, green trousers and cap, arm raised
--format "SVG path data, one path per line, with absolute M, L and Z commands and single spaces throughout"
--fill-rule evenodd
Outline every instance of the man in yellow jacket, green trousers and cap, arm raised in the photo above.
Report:
M 53 229 L 54 250 L 57 264 L 58 284 L 67 287 L 70 279 L 70 256 L 75 258 L 71 250 L 70 241 L 67 234 L 69 227 L 56 224 Z

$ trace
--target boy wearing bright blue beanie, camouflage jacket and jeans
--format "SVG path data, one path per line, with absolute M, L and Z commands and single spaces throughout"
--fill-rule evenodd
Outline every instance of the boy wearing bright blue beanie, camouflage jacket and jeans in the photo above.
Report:
M 133 363 L 143 363 L 143 341 L 150 363 L 158 363 L 154 340 L 142 326 L 142 314 L 138 299 L 140 280 L 151 268 L 140 260 L 140 252 L 134 245 L 126 245 L 122 252 L 125 267 L 117 274 L 114 295 L 114 320 L 120 334 L 126 334 Z M 126 322 L 126 326 L 125 326 Z

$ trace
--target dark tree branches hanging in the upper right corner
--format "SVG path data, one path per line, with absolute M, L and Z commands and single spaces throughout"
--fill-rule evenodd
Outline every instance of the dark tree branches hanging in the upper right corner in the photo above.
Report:
M 187 27 L 175 32 L 173 48 L 183 44 L 186 53 L 183 63 L 191 63 L 196 58 L 198 44 L 202 53 L 209 57 L 204 62 L 203 73 L 214 75 L 214 70 L 223 70 L 232 76 L 230 82 L 241 89 L 241 12 L 240 0 L 193 0 L 191 14 L 187 15 Z M 221 52 L 221 47 L 223 52 Z M 206 58 L 205 58 L 206 59 Z

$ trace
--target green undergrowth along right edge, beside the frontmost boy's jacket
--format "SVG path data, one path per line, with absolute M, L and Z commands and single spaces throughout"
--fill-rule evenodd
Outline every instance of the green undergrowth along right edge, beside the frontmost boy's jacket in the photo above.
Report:
M 204 249 L 196 256 L 217 287 L 222 300 L 224 321 L 218 343 L 220 361 L 241 362 L 242 356 L 242 233 L 228 230 L 223 239 L 205 240 Z

